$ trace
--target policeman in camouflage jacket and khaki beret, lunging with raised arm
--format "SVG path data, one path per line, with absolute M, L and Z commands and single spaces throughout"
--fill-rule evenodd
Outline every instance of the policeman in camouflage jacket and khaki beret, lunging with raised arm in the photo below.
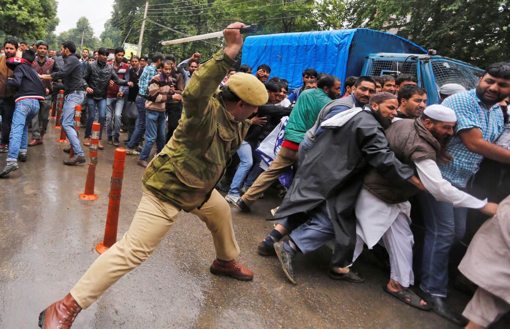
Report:
M 212 233 L 217 258 L 211 273 L 253 279 L 235 260 L 239 246 L 230 206 L 214 189 L 248 131 L 247 118 L 268 100 L 264 85 L 246 73 L 234 74 L 217 91 L 242 47 L 243 26 L 229 25 L 223 31 L 226 47 L 191 77 L 183 92 L 182 120 L 143 174 L 143 196 L 130 229 L 92 263 L 70 293 L 41 312 L 41 328 L 69 328 L 82 309 L 152 254 L 181 209 L 196 214 Z

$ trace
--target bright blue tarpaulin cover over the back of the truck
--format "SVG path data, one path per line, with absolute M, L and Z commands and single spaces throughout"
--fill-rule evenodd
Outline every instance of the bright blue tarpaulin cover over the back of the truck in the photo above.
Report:
M 351 57 L 358 58 L 353 65 L 356 67 L 349 69 L 351 45 L 357 49 Z M 333 74 L 342 81 L 347 71 L 359 75 L 364 58 L 372 52 L 424 53 L 425 49 L 401 37 L 368 29 L 296 32 L 247 37 L 241 62 L 251 66 L 253 74 L 257 66 L 269 65 L 270 76 L 287 79 L 292 90 L 302 86 L 301 73 L 307 68 Z

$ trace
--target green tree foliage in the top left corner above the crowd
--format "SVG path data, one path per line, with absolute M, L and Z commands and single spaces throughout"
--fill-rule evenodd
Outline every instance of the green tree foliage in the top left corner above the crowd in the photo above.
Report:
M 56 0 L 0 0 L 0 31 L 19 39 L 35 41 L 55 31 L 56 16 Z

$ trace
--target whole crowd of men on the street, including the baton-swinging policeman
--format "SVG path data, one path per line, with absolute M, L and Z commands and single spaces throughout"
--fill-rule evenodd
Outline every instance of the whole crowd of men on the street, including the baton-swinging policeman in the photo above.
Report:
M 202 63 L 200 53 L 177 64 L 161 52 L 150 61 L 126 59 L 119 47 L 109 61 L 103 47 L 79 54 L 65 41 L 57 53 L 42 40 L 30 47 L 5 40 L 0 152 L 8 154 L 0 177 L 17 170 L 18 160 L 27 161 L 28 147 L 43 143 L 59 90 L 70 143 L 64 151 L 74 154 L 64 165 L 85 162 L 82 145 L 90 146 L 92 123 L 99 122 L 98 149 L 104 149 L 105 125 L 114 146 L 125 131 L 126 153 L 146 168 L 130 230 L 64 299 L 41 313 L 41 327 L 70 327 L 78 312 L 150 256 L 181 210 L 198 215 L 211 230 L 213 274 L 252 280 L 253 273 L 235 260 L 239 247 L 227 202 L 249 212 L 289 170 L 292 184 L 274 213 L 278 224 L 257 251 L 277 256 L 293 284 L 295 255 L 329 241 L 335 245 L 329 277 L 364 282 L 351 265 L 366 245 L 386 250 L 390 278 L 384 290 L 407 305 L 470 328 L 486 327 L 510 311 L 510 201 L 487 188 L 509 175 L 510 65 L 488 65 L 473 90 L 441 86 L 439 103 L 429 106 L 411 74 L 351 76 L 342 88 L 338 77 L 309 68 L 302 87 L 289 91 L 284 77 L 269 78 L 266 64 L 253 74 L 247 64 L 233 68 L 242 25 L 225 30 L 227 46 Z M 84 136 L 74 126 L 77 105 Z M 257 149 L 285 117 L 281 149 L 263 170 Z M 235 154 L 237 161 L 230 161 Z M 480 168 L 486 176 L 477 183 Z M 463 313 L 469 323 L 446 300 L 449 254 L 465 235 L 468 208 L 485 216 L 459 267 L 478 285 Z M 425 228 L 420 245 L 414 245 L 416 220 Z

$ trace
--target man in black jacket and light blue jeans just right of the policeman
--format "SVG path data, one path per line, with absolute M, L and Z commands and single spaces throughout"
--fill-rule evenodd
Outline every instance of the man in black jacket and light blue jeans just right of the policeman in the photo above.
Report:
M 259 106 L 257 115 L 250 118 L 253 123 L 246 134 L 241 148 L 237 150 L 241 162 L 232 179 L 230 190 L 228 190 L 228 194 L 225 197 L 226 201 L 233 204 L 236 204 L 240 198 L 240 189 L 252 166 L 255 168 L 259 166 L 259 163 L 253 163 L 253 159 L 256 158 L 254 156 L 256 153 L 255 149 L 258 146 L 259 137 L 263 133 L 264 126 L 267 123 L 271 126 L 276 126 L 282 117 L 288 116 L 292 111 L 292 107 L 275 105 L 278 102 L 277 95 L 281 93 L 283 83 L 268 81 L 264 85 L 269 96 L 268 102 Z

